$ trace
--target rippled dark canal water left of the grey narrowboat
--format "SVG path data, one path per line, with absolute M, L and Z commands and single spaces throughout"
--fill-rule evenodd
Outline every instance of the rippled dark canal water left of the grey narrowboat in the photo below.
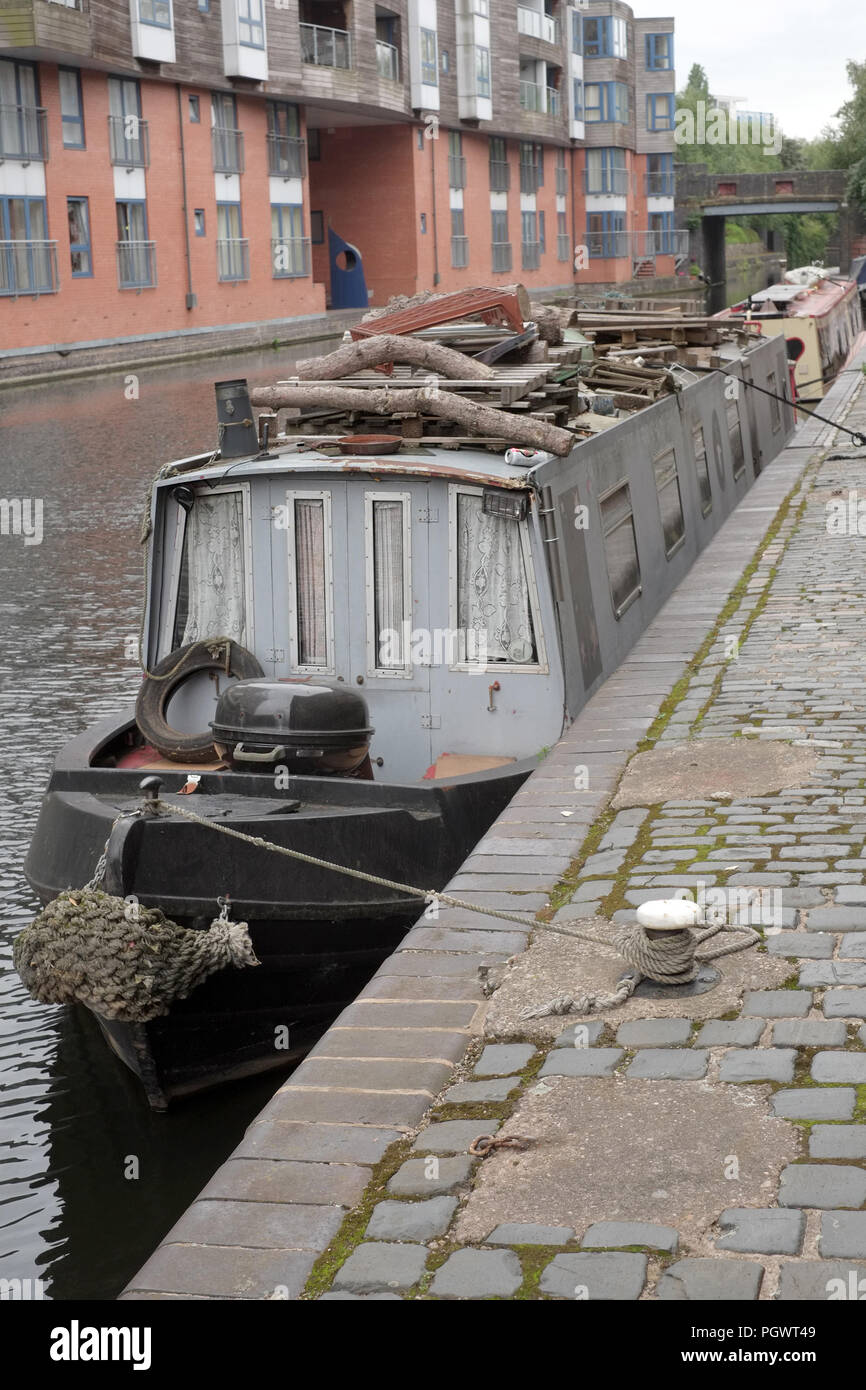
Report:
M 0 535 L 0 1279 L 46 1298 L 114 1298 L 277 1084 L 154 1115 L 89 1015 L 35 1004 L 11 952 L 39 906 L 21 869 L 51 758 L 139 685 L 125 651 L 150 478 L 215 442 L 214 379 L 292 366 L 264 350 L 149 367 L 138 399 L 114 368 L 0 393 L 0 496 L 43 503 L 40 543 Z

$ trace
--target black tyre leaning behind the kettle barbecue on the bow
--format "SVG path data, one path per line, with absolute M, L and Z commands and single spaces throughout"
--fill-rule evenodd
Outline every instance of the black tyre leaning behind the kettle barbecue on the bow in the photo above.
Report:
M 165 719 L 171 696 L 199 671 L 222 671 L 240 681 L 264 676 L 252 652 L 238 642 L 218 638 L 203 638 L 164 656 L 142 681 L 135 702 L 135 721 L 147 742 L 163 758 L 174 762 L 207 763 L 214 756 L 214 735 L 210 728 L 200 734 L 182 734 Z

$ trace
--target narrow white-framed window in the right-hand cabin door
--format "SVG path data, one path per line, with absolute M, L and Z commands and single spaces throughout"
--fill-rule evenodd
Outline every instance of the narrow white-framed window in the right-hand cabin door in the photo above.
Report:
M 411 498 L 364 495 L 367 666 L 371 676 L 410 676 Z

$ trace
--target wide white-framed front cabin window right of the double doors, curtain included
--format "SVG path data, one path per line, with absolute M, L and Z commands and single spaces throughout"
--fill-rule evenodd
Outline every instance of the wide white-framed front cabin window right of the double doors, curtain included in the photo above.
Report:
M 452 626 L 459 659 L 538 667 L 535 587 L 525 523 L 484 510 L 481 489 L 450 496 Z

